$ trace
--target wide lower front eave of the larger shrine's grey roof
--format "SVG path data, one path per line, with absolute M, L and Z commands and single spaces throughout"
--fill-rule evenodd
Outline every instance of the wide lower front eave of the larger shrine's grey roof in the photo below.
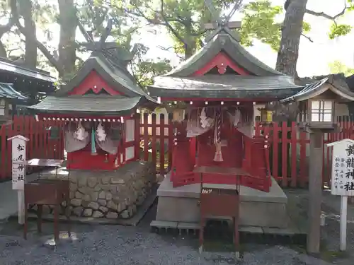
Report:
M 302 90 L 290 76 L 156 77 L 150 95 L 163 98 L 285 98 Z

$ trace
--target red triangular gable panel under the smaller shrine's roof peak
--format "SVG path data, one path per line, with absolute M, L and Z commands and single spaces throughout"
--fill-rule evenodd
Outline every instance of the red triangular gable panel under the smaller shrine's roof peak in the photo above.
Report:
M 79 86 L 69 91 L 68 95 L 84 95 L 91 89 L 95 94 L 100 93 L 101 90 L 105 90 L 109 95 L 122 95 L 122 93 L 108 86 L 108 83 L 106 83 L 95 70 L 92 70 L 84 80 L 81 81 Z

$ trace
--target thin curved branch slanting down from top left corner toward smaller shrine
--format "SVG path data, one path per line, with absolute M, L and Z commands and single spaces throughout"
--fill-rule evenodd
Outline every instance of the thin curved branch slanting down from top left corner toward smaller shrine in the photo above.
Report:
M 54 66 L 55 69 L 57 69 L 57 71 L 61 72 L 62 65 L 59 64 L 59 61 L 57 61 L 57 59 L 55 59 L 55 57 L 50 53 L 50 51 L 45 47 L 45 45 L 42 44 L 42 42 L 38 41 L 35 36 L 28 33 L 25 30 L 25 28 L 23 27 L 23 25 L 21 25 L 19 15 L 18 15 L 18 9 L 17 9 L 17 1 L 11 0 L 10 6 L 11 6 L 11 13 L 12 13 L 13 19 L 16 21 L 15 23 L 18 27 L 18 30 L 20 30 L 21 34 L 23 34 L 25 36 L 25 38 L 28 38 L 28 39 L 32 40 L 33 42 L 35 42 L 38 49 L 40 49 L 40 52 L 42 52 L 42 54 L 44 54 L 45 57 L 47 57 L 48 61 L 50 61 L 50 64 L 52 64 L 52 66 Z

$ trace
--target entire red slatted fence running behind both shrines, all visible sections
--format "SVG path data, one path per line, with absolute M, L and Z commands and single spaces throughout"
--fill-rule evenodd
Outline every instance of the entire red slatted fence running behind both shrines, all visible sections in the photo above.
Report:
M 154 161 L 156 170 L 162 175 L 171 170 L 174 124 L 165 121 L 164 114 L 148 114 L 141 117 L 140 158 Z M 342 131 L 325 134 L 324 143 L 341 139 L 354 139 L 354 123 L 339 122 Z M 13 124 L 0 129 L 0 180 L 11 177 L 11 143 L 7 139 L 21 134 L 30 141 L 27 146 L 28 158 L 64 158 L 62 135 L 59 139 L 49 139 L 49 126 L 63 126 L 62 122 L 36 122 L 32 116 L 16 116 Z M 296 123 L 290 126 L 286 122 L 270 126 L 256 125 L 256 135 L 270 134 L 270 163 L 272 175 L 282 187 L 306 187 L 308 182 L 309 135 L 300 132 Z M 324 147 L 324 184 L 329 182 L 331 174 L 331 148 Z

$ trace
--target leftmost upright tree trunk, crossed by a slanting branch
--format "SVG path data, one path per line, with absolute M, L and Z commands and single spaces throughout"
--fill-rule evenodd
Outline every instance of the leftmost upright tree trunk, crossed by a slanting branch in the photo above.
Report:
M 35 37 L 35 22 L 32 17 L 32 1 L 21 0 L 18 1 L 18 11 L 23 17 L 25 31 Z M 30 69 L 36 69 L 37 67 L 37 44 L 33 41 L 33 38 L 25 38 L 25 66 Z

